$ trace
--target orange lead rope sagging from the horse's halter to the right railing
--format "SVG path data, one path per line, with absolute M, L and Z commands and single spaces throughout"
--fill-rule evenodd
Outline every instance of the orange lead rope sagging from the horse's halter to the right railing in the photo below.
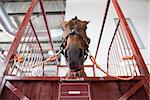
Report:
M 99 70 L 101 70 L 103 73 L 105 73 L 105 74 L 106 74 L 107 76 L 109 76 L 109 77 L 113 77 L 113 78 L 116 78 L 116 79 L 119 79 L 119 80 L 126 80 L 126 81 L 131 80 L 131 79 L 134 78 L 134 74 L 135 74 L 135 71 L 136 71 L 136 66 L 135 66 L 135 65 L 133 66 L 133 67 L 134 67 L 134 70 L 133 70 L 133 72 L 131 73 L 131 77 L 122 78 L 122 77 L 119 77 L 119 76 L 112 76 L 112 75 L 109 75 L 106 71 L 104 71 L 104 70 L 100 67 L 100 65 L 97 64 L 96 59 L 91 55 L 90 52 L 88 52 L 88 56 L 89 56 L 90 60 L 93 62 L 93 64 L 96 66 L 96 68 L 98 68 Z

